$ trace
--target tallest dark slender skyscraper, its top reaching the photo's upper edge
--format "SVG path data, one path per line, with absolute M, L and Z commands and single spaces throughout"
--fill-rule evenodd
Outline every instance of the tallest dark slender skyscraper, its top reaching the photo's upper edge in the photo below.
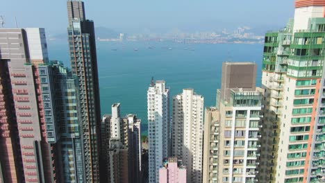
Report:
M 85 182 L 99 182 L 101 108 L 94 22 L 86 19 L 83 1 L 67 1 L 69 55 L 78 78 Z

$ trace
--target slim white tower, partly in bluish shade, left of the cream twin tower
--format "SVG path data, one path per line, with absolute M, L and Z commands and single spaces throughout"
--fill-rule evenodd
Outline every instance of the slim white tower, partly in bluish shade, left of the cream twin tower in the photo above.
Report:
M 169 88 L 166 82 L 152 80 L 147 92 L 149 137 L 149 182 L 159 182 L 159 168 L 169 157 Z

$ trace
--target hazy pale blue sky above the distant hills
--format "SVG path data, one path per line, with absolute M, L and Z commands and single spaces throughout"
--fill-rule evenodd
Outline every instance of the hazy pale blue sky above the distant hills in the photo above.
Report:
M 85 0 L 88 19 L 126 33 L 187 32 L 251 26 L 263 30 L 285 26 L 294 16 L 294 0 Z M 6 28 L 42 27 L 47 33 L 65 33 L 65 0 L 1 0 Z

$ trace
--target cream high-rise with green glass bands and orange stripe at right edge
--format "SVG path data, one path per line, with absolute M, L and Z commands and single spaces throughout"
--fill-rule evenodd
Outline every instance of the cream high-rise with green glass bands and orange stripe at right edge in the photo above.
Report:
M 325 1 L 297 0 L 265 35 L 262 182 L 324 182 Z

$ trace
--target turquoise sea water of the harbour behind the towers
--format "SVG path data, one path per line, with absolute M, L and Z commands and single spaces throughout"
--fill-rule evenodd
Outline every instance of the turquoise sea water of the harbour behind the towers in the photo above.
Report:
M 256 62 L 256 83 L 260 85 L 262 55 L 261 44 L 97 42 L 101 114 L 110 114 L 111 105 L 121 103 L 122 114 L 137 114 L 142 119 L 142 132 L 147 134 L 147 89 L 151 77 L 166 80 L 172 96 L 183 88 L 194 88 L 204 96 L 206 106 L 213 106 L 222 62 Z M 67 43 L 50 41 L 49 56 L 69 65 Z

